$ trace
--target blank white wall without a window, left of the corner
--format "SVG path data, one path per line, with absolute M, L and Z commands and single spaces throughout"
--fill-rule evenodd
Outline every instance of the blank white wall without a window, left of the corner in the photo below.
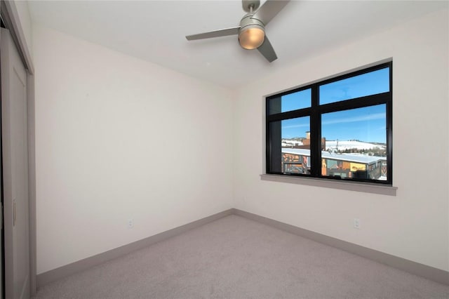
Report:
M 231 92 L 33 36 L 38 274 L 232 207 Z

